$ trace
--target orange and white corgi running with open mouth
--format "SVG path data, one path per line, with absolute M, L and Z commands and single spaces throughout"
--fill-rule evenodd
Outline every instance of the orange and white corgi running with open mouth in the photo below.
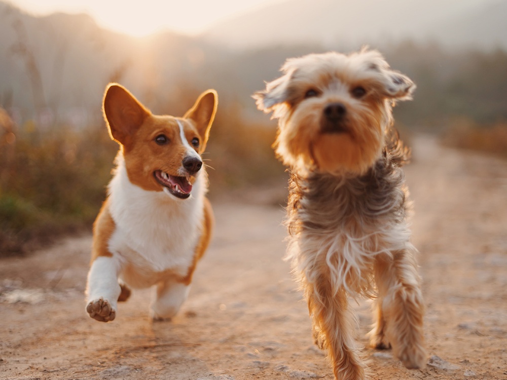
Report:
M 120 149 L 93 225 L 91 318 L 114 320 L 130 288 L 154 288 L 154 320 L 170 319 L 187 299 L 214 222 L 201 155 L 217 104 L 207 90 L 183 118 L 157 116 L 121 85 L 107 86 L 104 119 Z

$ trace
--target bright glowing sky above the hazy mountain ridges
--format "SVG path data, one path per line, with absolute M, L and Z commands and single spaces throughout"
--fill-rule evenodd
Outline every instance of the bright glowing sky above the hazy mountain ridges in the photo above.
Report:
M 36 16 L 88 13 L 105 28 L 134 36 L 172 30 L 195 35 L 215 23 L 281 0 L 8 0 Z

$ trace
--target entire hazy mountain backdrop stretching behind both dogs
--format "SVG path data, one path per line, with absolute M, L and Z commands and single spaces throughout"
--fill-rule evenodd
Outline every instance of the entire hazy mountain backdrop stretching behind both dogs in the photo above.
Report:
M 115 81 L 157 113 L 179 115 L 215 88 L 220 112 L 265 122 L 251 94 L 287 57 L 369 44 L 417 83 L 417 101 L 397 120 L 406 112 L 411 121 L 462 113 L 491 121 L 507 118 L 505 19 L 504 0 L 292 0 L 197 38 L 136 39 L 87 15 L 34 17 L 0 0 L 0 106 L 20 124 L 84 127 L 100 122 L 103 90 Z

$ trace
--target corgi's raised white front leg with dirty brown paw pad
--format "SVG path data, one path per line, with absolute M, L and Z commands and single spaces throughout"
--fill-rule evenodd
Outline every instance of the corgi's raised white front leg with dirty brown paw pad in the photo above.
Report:
M 99 256 L 93 261 L 86 286 L 86 311 L 91 318 L 100 322 L 115 319 L 117 301 L 121 294 L 118 272 L 118 260 L 114 257 Z

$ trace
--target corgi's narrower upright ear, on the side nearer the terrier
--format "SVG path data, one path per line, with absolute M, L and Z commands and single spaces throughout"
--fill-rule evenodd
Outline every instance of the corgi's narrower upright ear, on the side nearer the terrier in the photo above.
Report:
M 195 123 L 197 131 L 202 137 L 201 151 L 206 148 L 206 142 L 209 137 L 209 130 L 215 118 L 216 107 L 218 106 L 219 96 L 215 90 L 206 90 L 195 104 L 185 113 L 184 118 L 190 119 Z

